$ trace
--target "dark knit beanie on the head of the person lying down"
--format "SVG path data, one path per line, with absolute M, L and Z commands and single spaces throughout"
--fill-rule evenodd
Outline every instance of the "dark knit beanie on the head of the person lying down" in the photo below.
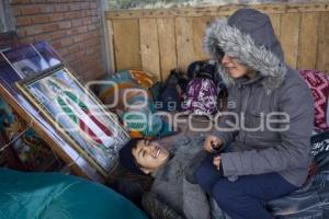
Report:
M 143 138 L 133 138 L 131 139 L 120 151 L 120 163 L 122 166 L 124 166 L 126 170 L 139 174 L 139 175 L 146 175 L 141 170 L 139 164 L 137 163 L 136 159 L 133 155 L 133 149 L 137 147 L 137 143 L 139 140 L 143 140 Z

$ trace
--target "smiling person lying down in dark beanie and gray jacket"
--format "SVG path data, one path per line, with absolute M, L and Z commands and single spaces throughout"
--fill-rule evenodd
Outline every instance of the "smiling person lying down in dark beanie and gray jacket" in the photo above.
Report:
M 160 141 L 132 139 L 120 151 L 124 168 L 154 177 L 150 193 L 175 214 L 188 219 L 211 218 L 209 205 L 198 184 L 190 183 L 185 172 L 200 157 L 204 138 L 177 135 L 170 146 Z M 201 152 L 202 153 L 202 152 Z

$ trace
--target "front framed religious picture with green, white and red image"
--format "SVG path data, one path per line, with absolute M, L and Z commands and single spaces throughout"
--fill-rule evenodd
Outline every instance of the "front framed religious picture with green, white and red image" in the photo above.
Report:
M 16 83 L 43 116 L 103 176 L 117 163 L 118 150 L 129 136 L 116 116 L 64 67 Z

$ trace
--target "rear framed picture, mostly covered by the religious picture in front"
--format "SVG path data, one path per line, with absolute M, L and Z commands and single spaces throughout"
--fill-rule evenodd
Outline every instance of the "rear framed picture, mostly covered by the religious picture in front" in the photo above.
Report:
M 24 53 L 26 49 L 33 49 L 36 53 L 26 54 Z M 12 64 L 12 61 L 33 59 L 33 57 L 36 61 L 41 60 L 37 57 L 43 57 L 47 61 L 47 66 L 44 66 L 45 68 L 43 67 L 44 69 L 42 69 L 42 71 L 32 72 L 31 76 L 21 74 Z M 66 163 L 63 171 L 67 172 L 69 170 L 76 175 L 99 183 L 105 183 L 106 177 L 104 177 L 104 174 L 101 174 L 98 169 L 95 169 L 95 165 L 90 162 L 86 155 L 82 155 L 72 143 L 56 129 L 56 126 L 43 115 L 41 110 L 37 108 L 16 85 L 20 81 L 42 77 L 44 73 L 59 67 L 65 67 L 63 58 L 47 42 L 19 45 L 10 49 L 1 50 L 0 95 L 14 113 L 27 124 L 27 127 L 34 129 L 38 137 L 47 143 L 54 155 L 57 155 Z M 80 83 L 83 84 L 83 82 Z M 92 94 L 91 92 L 89 93 Z

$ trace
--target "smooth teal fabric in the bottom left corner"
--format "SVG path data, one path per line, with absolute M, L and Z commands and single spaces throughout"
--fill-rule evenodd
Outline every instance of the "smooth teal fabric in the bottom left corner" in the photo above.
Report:
M 109 187 L 59 173 L 22 173 L 0 168 L 0 219 L 146 219 Z

